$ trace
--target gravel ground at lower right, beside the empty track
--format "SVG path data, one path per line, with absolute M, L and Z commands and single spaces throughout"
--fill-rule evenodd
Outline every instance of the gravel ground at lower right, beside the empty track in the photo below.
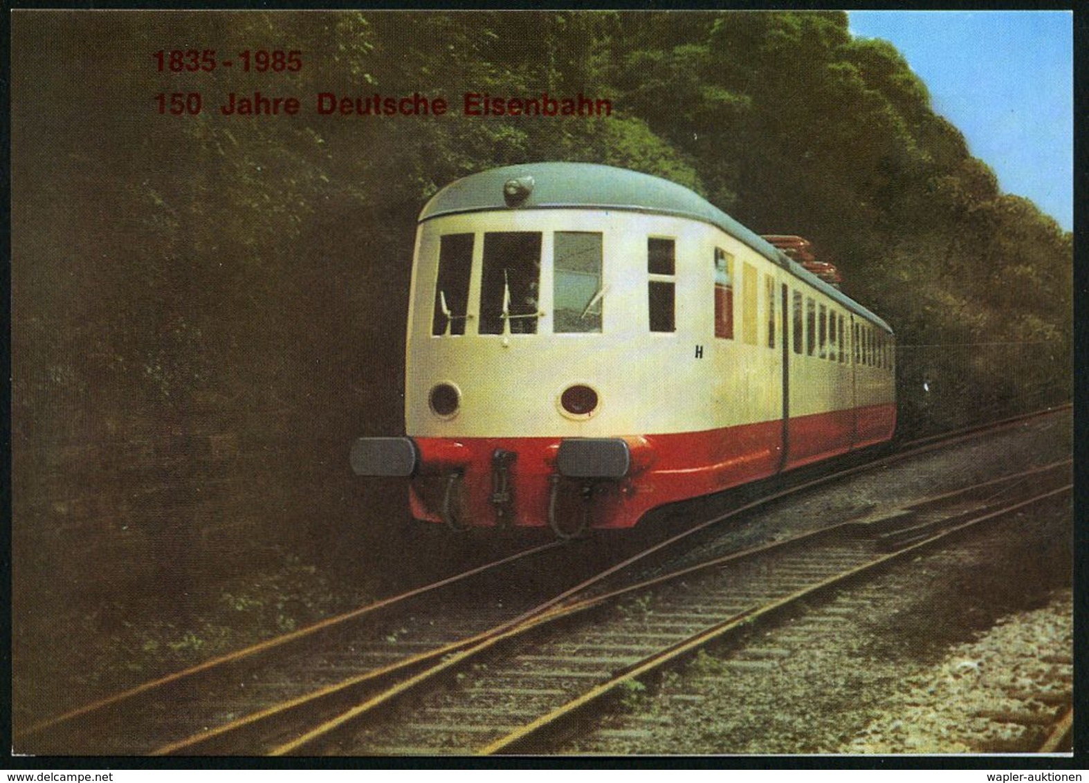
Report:
M 1068 513 L 1055 497 L 787 610 L 621 687 L 548 751 L 1040 753 L 1073 704 Z

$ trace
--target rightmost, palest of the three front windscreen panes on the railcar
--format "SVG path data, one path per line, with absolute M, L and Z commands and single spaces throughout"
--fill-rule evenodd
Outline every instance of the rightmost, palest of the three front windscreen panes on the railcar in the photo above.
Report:
M 601 234 L 558 231 L 552 258 L 552 331 L 600 332 Z

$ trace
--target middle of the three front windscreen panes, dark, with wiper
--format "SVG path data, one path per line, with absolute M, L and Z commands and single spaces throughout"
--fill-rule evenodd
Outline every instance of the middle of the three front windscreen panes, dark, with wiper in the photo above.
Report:
M 540 232 L 485 234 L 480 333 L 536 334 L 540 274 Z

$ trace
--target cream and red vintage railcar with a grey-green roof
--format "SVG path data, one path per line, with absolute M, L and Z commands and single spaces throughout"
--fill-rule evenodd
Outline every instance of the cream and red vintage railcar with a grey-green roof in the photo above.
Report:
M 419 216 L 404 437 L 358 475 L 467 526 L 634 526 L 665 503 L 879 443 L 878 316 L 688 188 L 587 163 L 485 171 Z

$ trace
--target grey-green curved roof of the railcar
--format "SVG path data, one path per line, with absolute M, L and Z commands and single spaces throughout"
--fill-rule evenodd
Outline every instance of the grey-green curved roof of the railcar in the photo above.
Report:
M 517 206 L 507 206 L 504 185 L 533 178 L 533 188 Z M 443 187 L 424 205 L 420 222 L 443 215 L 509 209 L 616 209 L 692 218 L 722 229 L 764 258 L 786 269 L 848 309 L 892 332 L 881 318 L 833 289 L 785 253 L 746 229 L 702 196 L 675 182 L 598 163 L 524 163 L 470 174 Z

